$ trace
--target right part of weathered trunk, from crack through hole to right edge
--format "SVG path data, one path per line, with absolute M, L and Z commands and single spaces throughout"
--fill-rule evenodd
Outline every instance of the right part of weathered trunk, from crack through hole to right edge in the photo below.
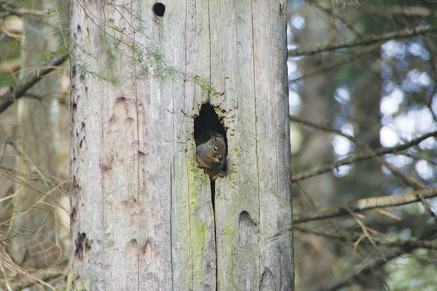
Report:
M 228 128 L 218 180 L 218 286 L 291 290 L 286 1 L 210 5 L 212 84 Z

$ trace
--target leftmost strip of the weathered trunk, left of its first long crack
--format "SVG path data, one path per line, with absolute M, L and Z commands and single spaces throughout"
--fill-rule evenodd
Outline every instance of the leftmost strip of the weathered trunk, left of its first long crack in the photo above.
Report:
M 70 51 L 80 55 L 78 46 L 99 53 L 100 30 L 90 20 L 101 17 L 98 3 L 87 17 L 77 2 L 70 6 L 70 29 L 77 45 Z M 89 19 L 85 21 L 85 19 Z M 92 62 L 91 70 L 100 70 Z M 104 209 L 102 152 L 102 89 L 90 75 L 70 69 L 70 271 L 67 290 L 103 290 L 105 288 Z

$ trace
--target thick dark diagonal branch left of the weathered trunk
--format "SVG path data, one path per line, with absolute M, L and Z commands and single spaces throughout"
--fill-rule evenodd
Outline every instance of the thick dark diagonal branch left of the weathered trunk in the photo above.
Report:
M 57 66 L 61 65 L 68 57 L 68 54 L 55 54 L 49 60 L 41 64 L 41 68 L 25 73 L 24 76 L 2 96 L 0 96 L 0 113 L 6 110 L 17 99 L 23 97 L 26 91 L 34 86 L 39 80 L 45 77 Z

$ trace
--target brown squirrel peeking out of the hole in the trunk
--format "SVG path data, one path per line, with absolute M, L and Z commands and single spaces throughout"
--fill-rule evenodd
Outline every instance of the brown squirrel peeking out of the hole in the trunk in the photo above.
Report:
M 218 176 L 225 175 L 223 166 L 226 159 L 226 144 L 222 135 L 212 131 L 203 135 L 203 141 L 201 139 L 196 142 L 199 144 L 196 146 L 196 160 L 199 168 L 209 175 L 211 181 L 215 181 Z

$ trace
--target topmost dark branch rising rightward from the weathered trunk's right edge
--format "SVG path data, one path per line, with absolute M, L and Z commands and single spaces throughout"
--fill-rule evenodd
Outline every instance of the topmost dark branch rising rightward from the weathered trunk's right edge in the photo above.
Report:
M 407 38 L 414 35 L 426 34 L 432 31 L 436 31 L 436 28 L 433 28 L 430 25 L 418 26 L 415 28 L 407 28 L 404 30 L 387 32 L 385 34 L 371 35 L 366 38 L 340 41 L 332 45 L 318 45 L 310 48 L 296 49 L 296 50 L 288 51 L 288 56 L 294 57 L 294 56 L 302 56 L 302 55 L 312 55 L 323 51 L 335 51 L 339 49 L 353 48 L 357 46 L 366 46 L 377 42 L 387 41 L 390 39 Z

